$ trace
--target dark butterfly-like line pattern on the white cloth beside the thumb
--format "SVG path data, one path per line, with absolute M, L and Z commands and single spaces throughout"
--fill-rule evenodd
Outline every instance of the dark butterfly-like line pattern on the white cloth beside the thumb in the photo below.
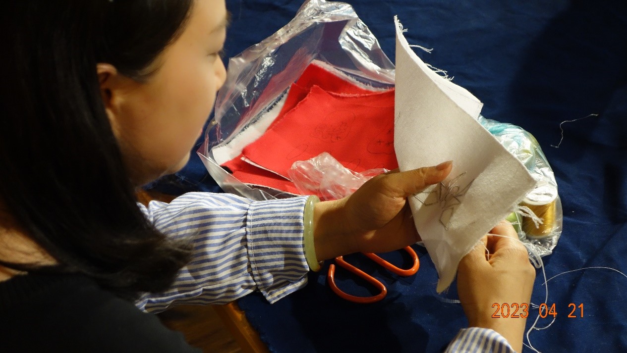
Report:
M 424 206 L 440 205 L 440 224 L 446 230 L 448 230 L 448 225 L 451 222 L 451 218 L 453 218 L 456 207 L 461 204 L 461 198 L 466 195 L 466 192 L 468 192 L 468 189 L 470 189 L 470 186 L 475 181 L 473 179 L 465 187 L 461 188 L 459 182 L 464 175 L 466 175 L 466 172 L 452 178 L 446 184 L 440 182 L 430 191 L 424 191 L 414 195 L 414 198 Z

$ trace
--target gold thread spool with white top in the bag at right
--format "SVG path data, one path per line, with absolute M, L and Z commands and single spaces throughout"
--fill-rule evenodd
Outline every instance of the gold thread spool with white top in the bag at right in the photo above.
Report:
M 543 183 L 536 187 L 525 197 L 521 205 L 529 207 L 538 218 L 542 218 L 542 223 L 534 222 L 534 218 L 523 215 L 522 230 L 529 238 L 546 238 L 556 227 L 556 199 L 557 188 L 553 185 Z

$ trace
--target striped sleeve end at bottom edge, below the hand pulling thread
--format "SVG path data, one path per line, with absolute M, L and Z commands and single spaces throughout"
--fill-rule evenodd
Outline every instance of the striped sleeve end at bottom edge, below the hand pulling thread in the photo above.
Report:
M 468 327 L 461 329 L 445 353 L 516 353 L 505 337 L 492 329 Z

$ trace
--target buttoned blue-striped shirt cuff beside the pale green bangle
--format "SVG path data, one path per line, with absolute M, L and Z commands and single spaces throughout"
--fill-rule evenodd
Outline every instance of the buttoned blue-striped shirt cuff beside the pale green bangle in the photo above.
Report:
M 270 304 L 307 284 L 303 210 L 307 197 L 250 204 L 246 242 L 257 288 Z

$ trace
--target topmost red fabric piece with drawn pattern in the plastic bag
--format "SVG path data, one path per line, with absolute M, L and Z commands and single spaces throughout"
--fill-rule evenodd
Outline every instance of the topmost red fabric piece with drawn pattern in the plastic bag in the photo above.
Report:
M 293 162 L 324 151 L 357 172 L 394 169 L 398 164 L 393 138 L 394 91 L 333 95 L 313 86 L 243 155 L 286 178 Z

